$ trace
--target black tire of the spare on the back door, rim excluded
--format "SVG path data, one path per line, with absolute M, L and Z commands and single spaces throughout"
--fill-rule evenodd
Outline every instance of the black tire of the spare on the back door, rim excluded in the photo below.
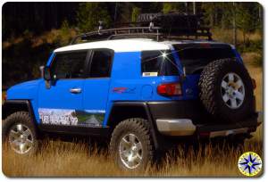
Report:
M 222 78 L 230 72 L 239 75 L 245 87 L 244 101 L 236 109 L 228 107 L 222 99 Z M 252 80 L 247 69 L 240 62 L 235 62 L 232 59 L 210 62 L 201 73 L 198 87 L 200 100 L 205 109 L 219 121 L 239 122 L 255 112 Z

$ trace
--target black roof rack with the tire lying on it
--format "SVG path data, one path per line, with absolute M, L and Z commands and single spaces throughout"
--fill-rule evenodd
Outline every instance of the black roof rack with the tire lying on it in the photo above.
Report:
M 71 45 L 80 43 L 79 40 L 90 42 L 130 37 L 146 37 L 155 39 L 156 41 L 190 39 L 190 37 L 193 37 L 192 39 L 207 37 L 208 40 L 212 40 L 210 29 L 200 26 L 200 15 L 185 15 L 180 13 L 141 14 L 137 22 L 121 23 L 115 25 L 115 27 L 120 28 L 103 29 L 102 21 L 99 21 L 98 30 L 74 37 L 71 40 Z

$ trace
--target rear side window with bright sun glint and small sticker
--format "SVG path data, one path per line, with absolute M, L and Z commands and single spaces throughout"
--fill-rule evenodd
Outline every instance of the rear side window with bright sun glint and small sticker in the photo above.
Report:
M 141 74 L 143 77 L 177 76 L 179 70 L 171 51 L 143 51 Z

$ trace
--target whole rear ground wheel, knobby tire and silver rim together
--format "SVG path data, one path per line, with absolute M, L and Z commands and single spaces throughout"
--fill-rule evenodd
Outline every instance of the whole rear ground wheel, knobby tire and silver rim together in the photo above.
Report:
M 147 120 L 121 121 L 113 130 L 110 152 L 121 169 L 145 170 L 154 152 Z

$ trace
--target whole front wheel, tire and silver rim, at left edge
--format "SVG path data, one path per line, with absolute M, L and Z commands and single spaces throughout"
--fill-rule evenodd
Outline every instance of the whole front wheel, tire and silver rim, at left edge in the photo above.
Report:
M 22 155 L 36 153 L 38 148 L 37 131 L 29 112 L 14 112 L 2 125 L 3 144 L 13 152 Z

